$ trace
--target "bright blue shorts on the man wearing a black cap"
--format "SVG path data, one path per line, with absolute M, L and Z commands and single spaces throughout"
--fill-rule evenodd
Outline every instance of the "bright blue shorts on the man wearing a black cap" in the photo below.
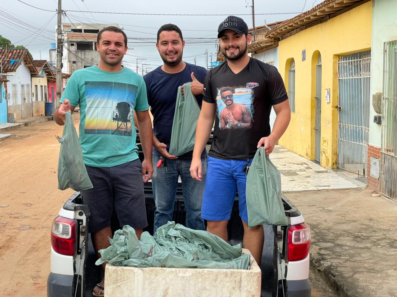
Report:
M 251 164 L 252 158 L 249 159 Z M 231 209 L 239 193 L 241 219 L 248 223 L 247 202 L 245 201 L 245 166 L 247 160 L 222 160 L 208 156 L 207 176 L 202 198 L 201 217 L 210 221 L 229 220 Z

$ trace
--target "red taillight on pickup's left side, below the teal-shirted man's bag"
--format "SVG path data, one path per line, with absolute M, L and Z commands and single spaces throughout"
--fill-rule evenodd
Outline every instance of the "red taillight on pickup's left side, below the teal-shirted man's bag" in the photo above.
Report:
M 76 252 L 76 221 L 58 216 L 52 224 L 51 244 L 59 254 L 73 256 Z

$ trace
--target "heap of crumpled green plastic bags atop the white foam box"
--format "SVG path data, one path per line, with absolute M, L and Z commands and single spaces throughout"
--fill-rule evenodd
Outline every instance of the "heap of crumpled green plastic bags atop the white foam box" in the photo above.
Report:
M 207 231 L 189 229 L 168 222 L 154 236 L 143 232 L 141 240 L 130 226 L 117 230 L 110 247 L 99 251 L 96 265 L 114 266 L 248 269 L 250 256 L 241 244 L 231 246 Z

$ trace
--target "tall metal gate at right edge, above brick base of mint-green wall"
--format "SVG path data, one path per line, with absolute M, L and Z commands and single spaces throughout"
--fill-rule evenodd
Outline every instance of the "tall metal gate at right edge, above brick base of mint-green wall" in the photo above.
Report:
M 380 192 L 397 200 L 397 40 L 384 43 Z

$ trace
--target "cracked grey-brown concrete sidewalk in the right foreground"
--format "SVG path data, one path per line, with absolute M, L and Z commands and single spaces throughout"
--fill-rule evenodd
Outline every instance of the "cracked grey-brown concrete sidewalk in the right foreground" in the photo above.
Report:
M 341 297 L 397 296 L 397 202 L 372 193 L 286 194 L 310 226 L 311 265 Z

